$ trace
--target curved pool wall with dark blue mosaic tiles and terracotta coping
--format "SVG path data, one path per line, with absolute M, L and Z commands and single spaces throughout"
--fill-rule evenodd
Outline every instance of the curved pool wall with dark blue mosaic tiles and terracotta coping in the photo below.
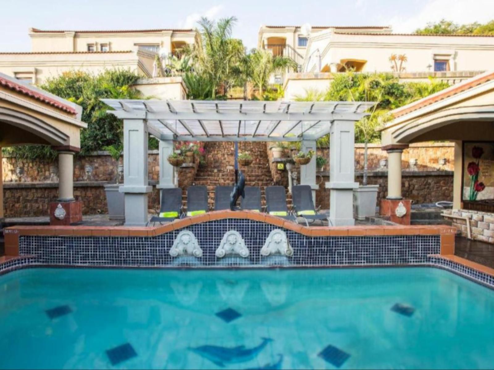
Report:
M 171 256 L 178 234 L 192 232 L 201 256 Z M 225 234 L 238 232 L 247 258 L 216 255 Z M 282 230 L 292 254 L 268 257 L 261 248 Z M 490 271 L 454 258 L 450 226 L 306 227 L 254 212 L 210 212 L 158 227 L 14 226 L 5 230 L 7 260 L 0 273 L 32 265 L 82 267 L 335 267 L 431 265 L 494 287 Z M 484 266 L 482 266 L 484 267 Z M 494 270 L 493 270 L 494 271 Z

